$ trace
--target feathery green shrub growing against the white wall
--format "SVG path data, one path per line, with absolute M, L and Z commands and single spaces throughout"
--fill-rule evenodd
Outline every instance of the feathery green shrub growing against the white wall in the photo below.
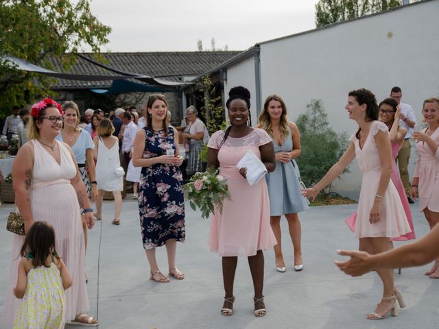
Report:
M 296 124 L 302 149 L 296 160 L 300 176 L 306 186 L 313 186 L 340 159 L 348 146 L 348 138 L 346 133 L 334 132 L 320 99 L 311 100 L 307 112 L 300 114 Z M 331 191 L 331 185 L 328 191 Z

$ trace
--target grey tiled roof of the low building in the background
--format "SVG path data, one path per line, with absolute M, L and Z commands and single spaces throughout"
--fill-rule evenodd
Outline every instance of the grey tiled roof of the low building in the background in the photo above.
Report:
M 161 79 L 181 82 L 183 76 L 202 75 L 214 67 L 237 56 L 241 51 L 182 51 L 182 52 L 151 52 L 151 53 L 103 53 L 106 62 L 102 64 L 127 73 L 137 73 L 160 77 Z M 91 53 L 82 55 L 92 58 Z M 54 71 L 65 72 L 60 58 L 51 58 Z M 83 58 L 78 57 L 69 73 L 119 75 L 103 69 Z M 136 81 L 136 80 L 133 80 Z M 53 89 L 64 88 L 108 88 L 111 80 L 80 81 L 56 79 L 51 85 Z

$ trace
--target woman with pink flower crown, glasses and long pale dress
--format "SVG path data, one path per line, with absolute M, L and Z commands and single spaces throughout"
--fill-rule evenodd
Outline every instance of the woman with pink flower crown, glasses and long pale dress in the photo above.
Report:
M 32 106 L 29 119 L 29 141 L 19 149 L 12 167 L 16 205 L 25 223 L 25 232 L 35 221 L 47 221 L 56 232 L 56 250 L 71 271 L 73 284 L 66 294 L 67 324 L 97 326 L 95 317 L 86 315 L 88 297 L 84 280 L 84 233 L 80 208 L 93 228 L 93 209 L 82 182 L 71 148 L 56 136 L 64 121 L 61 106 L 44 99 Z M 12 328 L 16 298 L 12 287 L 16 282 L 19 253 L 24 236 L 14 234 L 9 287 L 6 290 L 3 327 Z

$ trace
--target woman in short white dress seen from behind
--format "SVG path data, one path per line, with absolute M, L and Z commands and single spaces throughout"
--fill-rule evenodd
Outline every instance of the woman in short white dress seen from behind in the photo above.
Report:
M 96 159 L 96 180 L 99 195 L 96 199 L 96 216 L 102 216 L 102 200 L 104 191 L 112 192 L 115 197 L 115 218 L 112 224 L 119 225 L 122 208 L 123 169 L 119 158 L 119 138 L 112 136 L 115 127 L 108 119 L 102 119 L 97 126 L 97 136 L 93 140 L 95 149 L 93 156 Z

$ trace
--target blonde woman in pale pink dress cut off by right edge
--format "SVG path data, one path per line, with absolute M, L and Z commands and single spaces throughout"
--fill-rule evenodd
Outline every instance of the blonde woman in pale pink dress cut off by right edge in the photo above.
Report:
M 424 212 L 430 230 L 439 222 L 439 99 L 431 97 L 423 104 L 423 119 L 428 124 L 422 132 L 414 132 L 418 161 L 414 170 L 410 195 L 419 195 L 419 208 Z M 425 273 L 439 278 L 439 258 Z

